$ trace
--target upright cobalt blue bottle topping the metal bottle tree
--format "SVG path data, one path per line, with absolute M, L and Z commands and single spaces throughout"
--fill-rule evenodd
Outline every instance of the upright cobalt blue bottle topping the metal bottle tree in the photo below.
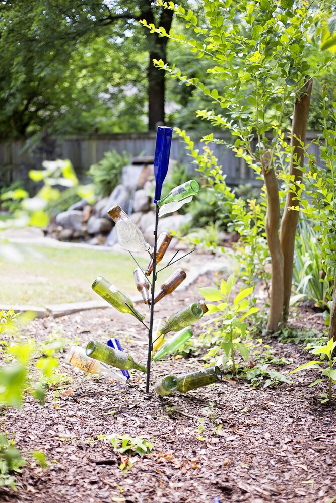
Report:
M 164 179 L 168 171 L 169 155 L 173 128 L 159 126 L 156 136 L 156 146 L 154 155 L 154 175 L 155 175 L 155 194 L 154 202 L 161 199 L 161 190 Z

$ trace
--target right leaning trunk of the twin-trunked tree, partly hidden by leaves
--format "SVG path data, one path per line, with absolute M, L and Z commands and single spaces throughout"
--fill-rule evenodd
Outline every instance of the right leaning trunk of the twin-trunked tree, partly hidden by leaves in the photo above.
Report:
M 305 83 L 300 93 L 297 95 L 292 121 L 292 159 L 290 165 L 290 174 L 294 175 L 294 181 L 299 182 L 302 179 L 302 171 L 300 168 L 304 165 L 304 146 L 301 145 L 306 141 L 306 130 L 308 122 L 308 113 L 310 105 L 310 97 L 312 90 L 312 79 Z M 290 211 L 290 206 L 295 206 L 297 202 L 294 199 L 295 194 L 289 192 L 286 197 L 286 205 L 281 220 L 280 227 L 280 243 L 282 253 L 284 255 L 284 299 L 283 299 L 283 315 L 288 314 L 289 300 L 292 290 L 293 278 L 293 260 L 296 227 L 299 219 L 298 211 Z

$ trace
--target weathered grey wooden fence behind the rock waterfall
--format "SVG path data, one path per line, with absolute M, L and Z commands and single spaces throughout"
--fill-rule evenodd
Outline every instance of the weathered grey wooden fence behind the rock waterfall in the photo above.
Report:
M 204 146 L 203 143 L 199 142 L 201 133 L 192 131 L 188 134 L 194 140 L 194 148 L 201 151 Z M 317 135 L 316 131 L 308 132 L 307 142 L 310 143 Z M 216 137 L 230 139 L 229 135 L 225 133 L 216 134 Z M 29 170 L 39 169 L 45 159 L 53 160 L 57 158 L 70 159 L 79 178 L 85 180 L 86 172 L 91 164 L 101 160 L 104 152 L 115 149 L 119 153 L 126 151 L 133 156 L 140 154 L 153 156 L 155 141 L 155 133 L 67 135 L 48 137 L 31 151 L 25 148 L 26 139 L 24 138 L 2 140 L 0 141 L 0 186 L 8 185 L 14 180 L 21 180 L 29 186 Z M 226 181 L 229 185 L 235 186 L 241 183 L 260 184 L 260 181 L 255 180 L 253 171 L 248 169 L 242 159 L 236 158 L 230 149 L 221 144 L 209 146 L 222 165 L 223 173 L 226 174 Z M 316 155 L 317 161 L 320 160 L 317 145 L 310 144 L 308 151 Z M 184 143 L 181 142 L 179 137 L 173 138 L 170 158 L 183 163 L 191 163 L 192 159 L 187 155 Z

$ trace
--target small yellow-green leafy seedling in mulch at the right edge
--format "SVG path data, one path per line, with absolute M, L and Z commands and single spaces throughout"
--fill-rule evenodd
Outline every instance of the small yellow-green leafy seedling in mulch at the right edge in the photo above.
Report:
M 328 383 L 327 394 L 321 395 L 322 403 L 331 402 L 332 385 L 336 382 L 336 368 L 334 368 L 336 365 L 336 358 L 332 356 L 332 352 L 335 348 L 336 341 L 334 342 L 332 338 L 328 341 L 326 346 L 317 346 L 312 351 L 310 351 L 310 353 L 312 353 L 313 355 L 320 355 L 321 361 L 311 360 L 310 362 L 305 363 L 304 365 L 300 365 L 300 367 L 297 367 L 292 371 L 292 373 L 294 373 L 303 369 L 317 369 L 318 372 L 322 374 L 322 378 L 316 379 L 316 381 L 310 384 L 310 386 L 315 386 L 322 381 L 326 381 Z

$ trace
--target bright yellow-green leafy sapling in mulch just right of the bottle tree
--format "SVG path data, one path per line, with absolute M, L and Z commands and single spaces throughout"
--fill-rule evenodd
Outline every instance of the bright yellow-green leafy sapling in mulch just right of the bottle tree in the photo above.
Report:
M 214 324 L 210 328 L 212 343 L 215 346 L 209 351 L 207 357 L 215 356 L 219 348 L 224 349 L 223 365 L 227 365 L 231 358 L 233 373 L 236 374 L 235 351 L 238 351 L 244 360 L 248 359 L 249 349 L 244 344 L 247 335 L 246 318 L 258 311 L 257 307 L 252 307 L 250 297 L 254 287 L 245 288 L 238 293 L 233 301 L 230 300 L 231 290 L 235 285 L 235 277 L 232 274 L 228 280 L 222 280 L 219 289 L 214 287 L 200 288 L 199 293 L 206 301 L 218 302 L 218 304 L 208 304 L 209 314 L 216 313 L 216 317 L 205 324 Z

